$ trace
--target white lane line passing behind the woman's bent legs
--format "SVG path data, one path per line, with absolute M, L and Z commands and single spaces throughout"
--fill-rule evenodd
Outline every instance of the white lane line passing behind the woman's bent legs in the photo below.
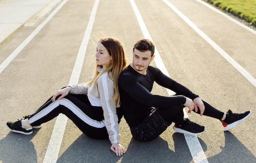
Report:
M 90 15 L 90 19 L 88 21 L 88 25 L 86 27 L 83 40 L 81 42 L 81 45 L 77 54 L 76 62 L 74 65 L 74 69 L 72 71 L 68 85 L 79 82 L 79 77 L 80 77 L 81 69 L 83 67 L 85 52 L 88 46 L 88 42 L 90 40 L 90 34 L 92 32 L 92 27 L 94 24 L 98 6 L 99 6 L 99 0 L 95 0 L 91 15 Z M 58 115 L 56 119 L 56 123 L 54 125 L 54 129 L 52 131 L 52 136 L 49 141 L 49 145 L 48 145 L 43 163 L 56 163 L 58 159 L 58 153 L 61 148 L 61 142 L 65 132 L 66 124 L 67 124 L 67 116 L 65 116 L 64 114 Z

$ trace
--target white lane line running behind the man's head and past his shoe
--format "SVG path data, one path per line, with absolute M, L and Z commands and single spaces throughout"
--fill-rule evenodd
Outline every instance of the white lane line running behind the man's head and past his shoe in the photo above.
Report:
M 144 23 L 144 20 L 141 17 L 141 14 L 139 12 L 139 9 L 137 8 L 134 0 L 130 0 L 130 3 L 132 5 L 132 8 L 135 12 L 135 15 L 137 17 L 137 20 L 139 22 L 139 26 L 141 28 L 141 31 L 144 35 L 145 38 L 148 38 L 150 40 L 152 40 L 148 29 Z M 153 41 L 153 40 L 152 40 Z M 155 64 L 157 65 L 157 67 L 163 71 L 163 73 L 167 76 L 170 76 L 168 74 L 168 71 L 166 69 L 166 67 L 164 66 L 164 63 L 159 55 L 159 52 L 157 51 L 157 48 L 155 47 Z M 166 89 L 169 95 L 172 95 L 174 92 L 170 92 L 169 89 Z M 188 115 L 186 114 L 186 111 L 184 110 L 184 117 L 188 117 Z M 184 134 L 184 137 L 186 139 L 186 143 L 189 147 L 189 150 L 191 152 L 191 156 L 194 160 L 195 163 L 208 163 L 207 161 L 207 157 L 204 154 L 204 151 L 202 149 L 202 146 L 200 144 L 200 142 L 198 141 L 198 137 L 197 136 L 192 136 L 192 135 L 188 135 L 188 134 Z

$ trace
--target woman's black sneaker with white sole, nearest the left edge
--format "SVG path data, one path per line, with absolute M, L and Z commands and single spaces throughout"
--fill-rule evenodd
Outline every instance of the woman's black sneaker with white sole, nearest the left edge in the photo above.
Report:
M 10 131 L 17 132 L 20 134 L 30 135 L 33 133 L 32 127 L 29 127 L 27 129 L 21 127 L 21 120 L 18 120 L 16 122 L 7 122 L 6 127 Z

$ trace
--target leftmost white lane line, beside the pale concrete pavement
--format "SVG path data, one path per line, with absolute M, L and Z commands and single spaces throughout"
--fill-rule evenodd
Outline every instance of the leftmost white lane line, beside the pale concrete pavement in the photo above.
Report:
M 52 17 L 61 9 L 61 7 L 67 2 L 67 0 L 63 0 L 61 4 L 52 11 L 52 13 L 10 54 L 8 58 L 4 60 L 4 62 L 0 65 L 0 74 L 2 71 L 11 63 L 11 61 L 18 56 L 20 51 L 24 49 L 28 45 L 28 43 L 36 36 L 36 34 L 52 19 Z

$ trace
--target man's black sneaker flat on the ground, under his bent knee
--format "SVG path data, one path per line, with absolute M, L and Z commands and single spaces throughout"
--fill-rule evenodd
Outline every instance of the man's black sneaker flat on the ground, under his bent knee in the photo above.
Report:
M 173 130 L 181 133 L 181 134 L 189 134 L 189 135 L 199 135 L 205 131 L 205 127 L 198 125 L 189 120 L 189 118 L 185 118 L 186 123 L 182 126 L 173 125 Z

